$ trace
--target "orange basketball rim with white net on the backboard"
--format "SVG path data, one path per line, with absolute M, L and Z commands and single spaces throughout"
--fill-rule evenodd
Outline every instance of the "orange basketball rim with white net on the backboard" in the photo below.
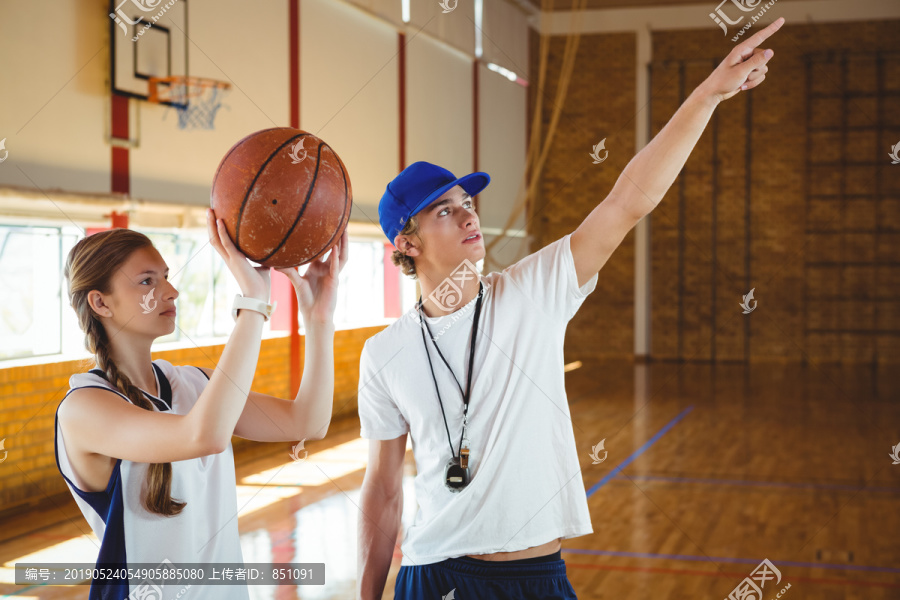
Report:
M 178 111 L 181 129 L 213 129 L 216 112 L 231 84 L 204 77 L 150 77 L 148 102 L 167 104 Z

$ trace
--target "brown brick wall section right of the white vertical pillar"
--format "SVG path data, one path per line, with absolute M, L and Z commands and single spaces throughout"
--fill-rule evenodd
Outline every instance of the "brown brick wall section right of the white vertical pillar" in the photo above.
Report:
M 763 85 L 716 110 L 651 215 L 655 358 L 898 361 L 898 24 L 785 26 Z M 653 35 L 653 134 L 731 47 Z

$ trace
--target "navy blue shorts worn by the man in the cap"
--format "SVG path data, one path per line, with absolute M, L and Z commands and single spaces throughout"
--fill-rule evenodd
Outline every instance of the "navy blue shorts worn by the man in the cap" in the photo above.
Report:
M 450 592 L 455 594 L 450 596 Z M 402 566 L 394 600 L 571 600 L 575 590 L 560 553 L 512 561 L 461 556 L 430 565 Z

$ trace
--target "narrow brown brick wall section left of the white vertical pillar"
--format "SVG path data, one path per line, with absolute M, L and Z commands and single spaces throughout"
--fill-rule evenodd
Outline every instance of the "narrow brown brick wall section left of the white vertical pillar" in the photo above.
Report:
M 538 90 L 540 46 L 531 33 L 530 106 L 543 95 L 543 140 L 553 114 L 565 39 L 550 44 L 547 80 Z M 534 252 L 575 231 L 612 190 L 618 174 L 634 156 L 635 36 L 631 33 L 583 35 L 559 125 L 553 138 L 535 201 L 529 207 L 528 232 Z M 608 158 L 594 164 L 595 144 L 606 138 Z M 542 142 L 543 143 L 543 142 Z M 602 155 L 602 152 L 601 152 Z M 569 323 L 566 357 L 631 357 L 634 353 L 634 233 L 603 267 L 597 288 Z

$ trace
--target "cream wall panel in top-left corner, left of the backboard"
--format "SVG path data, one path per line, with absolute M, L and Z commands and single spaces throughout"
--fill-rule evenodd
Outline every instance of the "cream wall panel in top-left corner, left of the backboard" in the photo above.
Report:
M 0 185 L 109 190 L 105 6 L 0 3 Z

